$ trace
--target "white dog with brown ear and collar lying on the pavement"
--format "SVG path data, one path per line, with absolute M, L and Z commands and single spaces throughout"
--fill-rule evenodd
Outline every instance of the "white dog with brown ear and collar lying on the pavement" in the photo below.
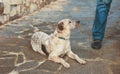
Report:
M 86 64 L 86 61 L 79 58 L 72 52 L 70 46 L 71 31 L 78 27 L 80 21 L 63 19 L 58 22 L 56 30 L 51 35 L 44 32 L 36 32 L 32 35 L 31 46 L 34 51 L 48 56 L 48 60 L 61 63 L 64 67 L 69 68 L 70 65 L 62 59 L 61 55 L 75 59 L 80 64 Z

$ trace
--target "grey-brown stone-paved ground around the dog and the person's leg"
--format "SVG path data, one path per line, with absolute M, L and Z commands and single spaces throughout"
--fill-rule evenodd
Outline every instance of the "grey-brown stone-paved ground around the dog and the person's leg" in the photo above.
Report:
M 41 10 L 0 27 L 0 74 L 120 74 L 120 1 L 113 0 L 101 50 L 93 50 L 91 29 L 96 0 L 57 0 Z M 72 51 L 87 60 L 86 65 L 64 57 L 71 65 L 48 61 L 32 50 L 31 35 L 54 32 L 59 20 L 80 20 L 72 32 Z

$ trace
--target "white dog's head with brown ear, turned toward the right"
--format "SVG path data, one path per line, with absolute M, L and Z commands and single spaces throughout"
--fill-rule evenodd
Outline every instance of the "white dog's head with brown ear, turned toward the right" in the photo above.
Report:
M 61 21 L 58 22 L 58 26 L 57 29 L 59 31 L 64 31 L 64 30 L 72 30 L 78 27 L 78 25 L 80 24 L 80 21 L 74 21 L 74 20 L 70 20 L 70 19 L 63 19 Z

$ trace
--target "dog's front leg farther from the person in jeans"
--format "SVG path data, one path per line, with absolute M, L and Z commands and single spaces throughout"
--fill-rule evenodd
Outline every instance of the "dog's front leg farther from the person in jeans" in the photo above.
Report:
M 48 60 L 52 60 L 54 62 L 61 63 L 66 68 L 70 67 L 70 65 L 64 59 L 62 59 L 62 58 L 60 58 L 58 56 L 49 56 Z

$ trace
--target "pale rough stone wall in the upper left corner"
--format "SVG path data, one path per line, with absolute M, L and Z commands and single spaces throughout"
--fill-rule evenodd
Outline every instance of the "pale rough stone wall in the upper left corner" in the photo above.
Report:
M 0 25 L 32 13 L 55 0 L 0 0 Z

